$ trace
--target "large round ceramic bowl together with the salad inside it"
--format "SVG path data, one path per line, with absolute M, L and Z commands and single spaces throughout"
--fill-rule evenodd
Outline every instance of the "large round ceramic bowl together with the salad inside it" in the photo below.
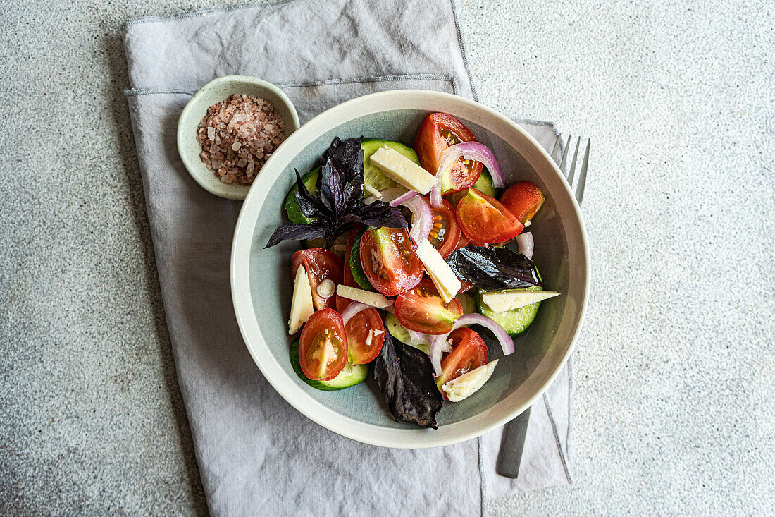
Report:
M 239 213 L 231 290 L 289 404 L 351 439 L 422 448 L 543 394 L 574 348 L 588 264 L 577 203 L 536 139 L 469 99 L 394 90 L 277 147 Z

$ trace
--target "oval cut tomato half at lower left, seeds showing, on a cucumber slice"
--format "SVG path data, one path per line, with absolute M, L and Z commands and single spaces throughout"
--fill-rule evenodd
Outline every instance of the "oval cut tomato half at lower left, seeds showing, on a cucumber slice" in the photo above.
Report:
M 312 380 L 332 380 L 347 363 L 347 338 L 342 316 L 333 309 L 317 311 L 298 340 L 301 371 Z

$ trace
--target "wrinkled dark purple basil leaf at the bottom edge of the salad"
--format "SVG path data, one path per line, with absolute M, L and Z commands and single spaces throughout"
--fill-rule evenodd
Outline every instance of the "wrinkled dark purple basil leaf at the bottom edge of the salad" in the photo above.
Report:
M 431 360 L 395 340 L 387 331 L 387 323 L 382 350 L 374 362 L 374 380 L 397 422 L 438 429 L 436 413 L 442 408 L 442 397 L 433 382 Z

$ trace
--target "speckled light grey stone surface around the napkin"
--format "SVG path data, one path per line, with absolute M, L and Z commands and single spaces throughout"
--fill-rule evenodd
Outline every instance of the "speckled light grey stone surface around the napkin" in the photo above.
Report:
M 0 5 L 0 514 L 206 511 L 119 24 L 221 4 Z M 773 514 L 773 2 L 460 16 L 485 104 L 593 142 L 574 485 L 490 514 Z

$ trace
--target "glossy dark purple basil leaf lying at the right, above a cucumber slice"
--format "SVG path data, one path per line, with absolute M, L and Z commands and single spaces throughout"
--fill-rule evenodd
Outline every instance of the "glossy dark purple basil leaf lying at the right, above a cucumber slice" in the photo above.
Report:
M 449 254 L 446 263 L 458 278 L 486 291 L 543 287 L 532 260 L 509 248 L 466 246 Z

